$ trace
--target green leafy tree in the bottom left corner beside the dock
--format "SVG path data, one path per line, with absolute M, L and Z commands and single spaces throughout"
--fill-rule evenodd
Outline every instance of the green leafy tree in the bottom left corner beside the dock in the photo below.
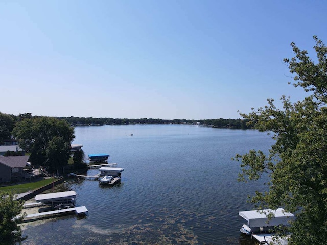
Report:
M 26 239 L 18 226 L 24 218 L 21 211 L 22 203 L 14 200 L 12 193 L 0 192 L 0 244 L 21 244 Z

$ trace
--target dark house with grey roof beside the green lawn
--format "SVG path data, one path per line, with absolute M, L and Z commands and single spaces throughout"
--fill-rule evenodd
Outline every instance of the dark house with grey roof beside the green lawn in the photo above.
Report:
M 10 156 L 0 155 L 0 183 L 18 182 L 25 180 L 26 173 L 24 168 L 29 166 L 30 156 Z

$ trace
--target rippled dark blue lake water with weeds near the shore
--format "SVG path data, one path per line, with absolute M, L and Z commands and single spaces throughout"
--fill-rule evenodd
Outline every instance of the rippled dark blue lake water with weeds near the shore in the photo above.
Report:
M 133 136 L 131 136 L 133 134 Z M 88 216 L 69 215 L 24 225 L 22 244 L 255 244 L 239 229 L 238 212 L 253 209 L 247 196 L 263 181 L 237 182 L 250 149 L 273 140 L 255 130 L 196 125 L 76 127 L 85 155 L 108 153 L 123 167 L 113 187 L 72 179 L 55 191 L 75 190 Z M 97 169 L 88 170 L 95 175 Z M 46 192 L 51 192 L 48 190 Z

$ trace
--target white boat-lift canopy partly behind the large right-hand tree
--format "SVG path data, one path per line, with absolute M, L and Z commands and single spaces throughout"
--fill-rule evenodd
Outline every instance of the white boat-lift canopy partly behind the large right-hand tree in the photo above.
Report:
M 273 213 L 274 217 L 268 223 L 267 215 L 269 213 Z M 242 211 L 239 212 L 239 218 L 240 216 L 247 220 L 248 227 L 286 226 L 288 221 L 294 218 L 294 214 L 285 212 L 283 208 Z

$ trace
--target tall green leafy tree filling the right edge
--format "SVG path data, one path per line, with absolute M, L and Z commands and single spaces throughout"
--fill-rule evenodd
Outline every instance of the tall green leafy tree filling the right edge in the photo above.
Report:
M 293 84 L 310 92 L 295 103 L 283 96 L 283 109 L 268 99 L 268 105 L 241 114 L 261 132 L 272 132 L 275 144 L 269 155 L 251 150 L 241 161 L 240 181 L 258 180 L 267 173 L 268 190 L 256 192 L 251 201 L 258 208 L 284 207 L 296 219 L 290 228 L 289 244 L 320 244 L 327 238 L 327 48 L 314 36 L 315 63 L 307 51 L 291 44 L 295 57 L 284 59 L 295 74 Z

